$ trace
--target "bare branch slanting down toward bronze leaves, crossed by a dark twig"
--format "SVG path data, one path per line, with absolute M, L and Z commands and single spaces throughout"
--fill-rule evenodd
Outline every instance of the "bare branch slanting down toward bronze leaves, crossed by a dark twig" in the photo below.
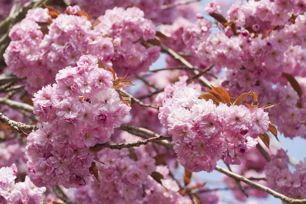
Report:
M 164 45 L 161 45 L 161 52 L 168 54 L 170 57 L 172 57 L 175 61 L 181 63 L 182 65 L 185 65 L 189 68 L 194 68 L 192 66 L 192 64 L 190 64 L 187 60 L 185 60 L 184 58 L 182 58 L 179 54 L 175 53 L 173 49 L 170 49 L 168 47 L 165 47 Z M 198 70 L 193 70 L 194 74 L 199 74 L 200 72 Z M 203 85 L 206 86 L 208 88 L 212 88 L 211 87 L 211 83 L 202 75 L 198 78 L 199 82 Z

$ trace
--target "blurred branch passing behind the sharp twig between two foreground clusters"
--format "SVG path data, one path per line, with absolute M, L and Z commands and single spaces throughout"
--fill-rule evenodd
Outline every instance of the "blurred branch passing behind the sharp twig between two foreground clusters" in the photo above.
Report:
M 130 134 L 133 134 L 133 135 L 145 138 L 145 139 L 149 139 L 152 137 L 160 137 L 159 134 L 153 131 L 150 131 L 148 129 L 145 129 L 143 127 L 135 127 L 133 125 L 127 125 L 127 124 L 121 124 L 120 127 L 117 128 L 117 130 L 126 131 Z M 155 143 L 163 145 L 167 147 L 168 149 L 173 149 L 173 145 L 167 140 L 155 141 Z

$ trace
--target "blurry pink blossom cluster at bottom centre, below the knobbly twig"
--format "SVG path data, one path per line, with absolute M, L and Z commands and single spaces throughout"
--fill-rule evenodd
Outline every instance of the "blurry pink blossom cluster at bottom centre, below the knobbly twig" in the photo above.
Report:
M 136 161 L 127 149 L 103 149 L 96 155 L 98 179 L 90 185 L 77 189 L 77 203 L 137 203 L 143 199 L 143 184 L 156 170 L 155 160 L 137 154 Z M 135 158 L 134 158 L 135 159 Z M 97 193 L 98 192 L 98 193 Z

